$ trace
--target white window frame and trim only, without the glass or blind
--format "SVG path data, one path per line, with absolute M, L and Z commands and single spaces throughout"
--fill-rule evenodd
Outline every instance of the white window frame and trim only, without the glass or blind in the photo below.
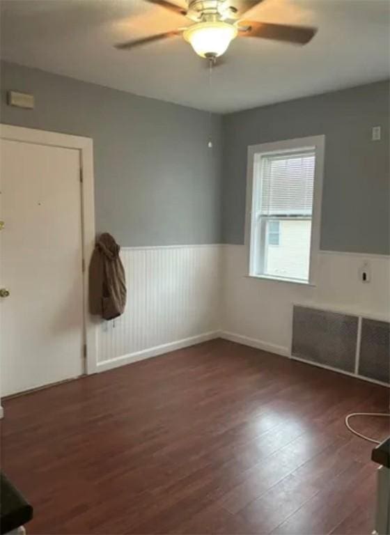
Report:
M 254 271 L 256 258 L 255 243 L 255 188 L 260 180 L 261 157 L 272 154 L 299 152 L 302 149 L 313 148 L 315 150 L 315 169 L 313 185 L 313 216 L 311 219 L 311 244 L 309 280 L 300 281 L 288 277 L 276 277 L 274 275 L 256 274 Z M 315 276 L 318 270 L 318 253 L 320 251 L 320 226 L 321 226 L 321 203 L 322 203 L 322 177 L 324 174 L 325 161 L 325 135 L 286 139 L 272 143 L 251 145 L 248 147 L 247 165 L 247 208 L 245 217 L 245 247 L 247 248 L 248 277 L 267 279 L 271 281 L 283 281 L 292 284 L 306 284 L 315 286 Z M 256 176 L 255 176 L 256 173 Z

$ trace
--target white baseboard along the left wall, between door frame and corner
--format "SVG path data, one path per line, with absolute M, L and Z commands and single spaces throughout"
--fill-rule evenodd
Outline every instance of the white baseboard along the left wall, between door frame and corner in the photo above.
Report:
M 119 366 L 125 366 L 125 364 L 132 364 L 133 362 L 138 362 L 139 360 L 150 359 L 151 357 L 164 355 L 164 353 L 175 351 L 177 349 L 195 346 L 196 343 L 206 342 L 215 338 L 219 338 L 219 331 L 205 332 L 203 334 L 191 336 L 190 338 L 185 338 L 176 342 L 164 343 L 161 346 L 143 349 L 141 351 L 130 353 L 128 355 L 116 357 L 115 359 L 98 362 L 97 371 L 100 372 L 111 370 L 113 368 L 118 368 Z

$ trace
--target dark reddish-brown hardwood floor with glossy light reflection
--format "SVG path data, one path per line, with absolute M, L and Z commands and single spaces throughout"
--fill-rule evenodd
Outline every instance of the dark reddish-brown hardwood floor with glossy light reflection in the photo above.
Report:
M 216 340 L 4 401 L 33 534 L 370 534 L 389 391 Z M 354 421 L 375 437 L 384 419 Z

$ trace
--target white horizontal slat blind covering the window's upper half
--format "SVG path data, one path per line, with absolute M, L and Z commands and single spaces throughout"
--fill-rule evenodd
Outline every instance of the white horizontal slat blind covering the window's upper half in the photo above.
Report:
M 305 216 L 313 212 L 314 150 L 262 157 L 260 212 L 263 216 Z

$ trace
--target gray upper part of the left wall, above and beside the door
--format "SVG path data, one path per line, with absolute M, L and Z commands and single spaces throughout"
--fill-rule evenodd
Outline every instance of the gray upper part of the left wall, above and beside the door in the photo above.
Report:
M 2 62 L 1 122 L 93 138 L 96 228 L 121 245 L 221 241 L 220 116 L 210 150 L 206 112 Z

